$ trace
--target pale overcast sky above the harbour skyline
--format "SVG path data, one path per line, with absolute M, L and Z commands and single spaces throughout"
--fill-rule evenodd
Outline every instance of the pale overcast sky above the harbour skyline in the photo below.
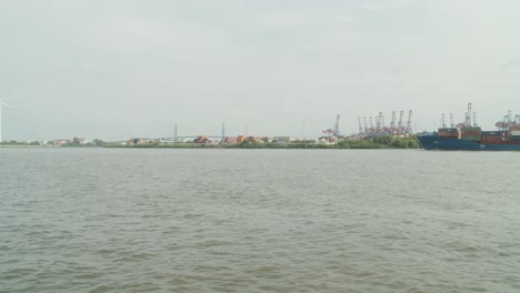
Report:
M 319 137 L 520 114 L 517 0 L 1 0 L 4 140 Z M 407 117 L 406 117 L 407 118 Z

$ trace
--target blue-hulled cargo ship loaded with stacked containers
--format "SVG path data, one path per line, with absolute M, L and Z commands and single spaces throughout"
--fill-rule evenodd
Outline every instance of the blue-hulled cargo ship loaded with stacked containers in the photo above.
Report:
M 452 117 L 451 117 L 452 119 Z M 503 121 L 497 122 L 498 130 L 482 131 L 474 121 L 471 123 L 471 103 L 468 105 L 464 123 L 443 127 L 432 133 L 418 134 L 424 150 L 447 151 L 520 151 L 520 115 L 512 119 L 511 112 Z

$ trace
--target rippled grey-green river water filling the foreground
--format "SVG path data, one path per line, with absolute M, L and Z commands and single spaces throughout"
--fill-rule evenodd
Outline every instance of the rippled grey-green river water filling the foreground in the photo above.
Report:
M 0 149 L 0 292 L 520 292 L 520 153 Z

